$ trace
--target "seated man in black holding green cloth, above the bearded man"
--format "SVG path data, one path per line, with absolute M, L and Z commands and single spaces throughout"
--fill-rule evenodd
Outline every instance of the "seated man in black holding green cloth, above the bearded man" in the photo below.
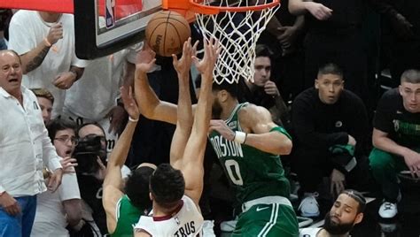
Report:
M 333 195 L 338 195 L 345 183 L 352 186 L 366 181 L 367 112 L 362 100 L 344 89 L 338 66 L 327 64 L 319 69 L 315 88 L 296 97 L 292 126 L 296 137 L 292 167 L 298 174 L 299 194 L 304 197 L 299 209 L 303 217 L 317 217 L 315 191 L 323 177 L 331 176 Z

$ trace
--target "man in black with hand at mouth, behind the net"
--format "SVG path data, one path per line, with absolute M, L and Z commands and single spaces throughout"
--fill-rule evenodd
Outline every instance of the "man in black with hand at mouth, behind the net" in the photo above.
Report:
M 288 124 L 290 116 L 276 83 L 271 78 L 273 52 L 267 46 L 258 44 L 255 55 L 253 82 L 240 80 L 245 101 L 266 108 L 270 111 L 273 121 L 284 126 Z

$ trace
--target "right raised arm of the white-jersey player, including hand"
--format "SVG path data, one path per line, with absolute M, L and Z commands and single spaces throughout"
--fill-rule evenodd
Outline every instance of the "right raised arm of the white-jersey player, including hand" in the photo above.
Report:
M 201 89 L 191 136 L 187 141 L 181 167 L 185 179 L 185 195 L 190 196 L 196 204 L 203 189 L 203 159 L 212 112 L 213 71 L 220 53 L 219 43 L 214 42 L 213 39 L 210 42 L 204 42 L 204 45 L 204 58 L 199 61 L 197 57 L 194 57 L 194 63 L 198 72 L 201 73 Z

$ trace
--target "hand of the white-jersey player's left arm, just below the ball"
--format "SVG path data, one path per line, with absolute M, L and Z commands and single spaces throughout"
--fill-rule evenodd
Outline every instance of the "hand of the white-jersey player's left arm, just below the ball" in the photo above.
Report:
M 178 59 L 175 54 L 172 55 L 173 65 L 176 73 L 180 75 L 180 78 L 187 78 L 190 73 L 192 56 L 196 55 L 198 41 L 191 45 L 191 37 L 188 41 L 183 42 L 183 56 Z

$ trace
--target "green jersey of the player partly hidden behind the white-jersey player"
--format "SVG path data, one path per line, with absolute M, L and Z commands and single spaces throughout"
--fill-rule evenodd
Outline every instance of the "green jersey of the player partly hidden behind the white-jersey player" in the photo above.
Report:
M 133 226 L 136 225 L 140 216 L 145 213 L 131 204 L 127 195 L 121 196 L 116 210 L 117 226 L 111 236 L 133 236 Z

